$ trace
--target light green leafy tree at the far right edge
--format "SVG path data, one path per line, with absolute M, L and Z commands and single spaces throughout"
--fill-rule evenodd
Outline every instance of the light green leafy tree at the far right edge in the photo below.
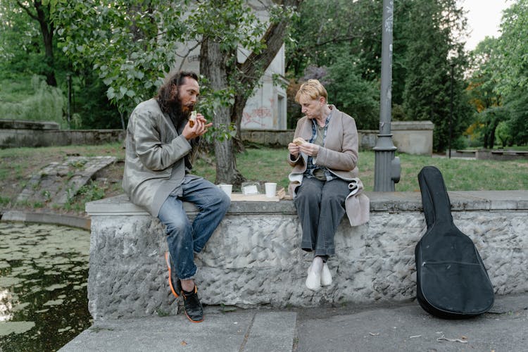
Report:
M 508 8 L 501 22 L 501 37 L 486 38 L 472 52 L 473 70 L 469 85 L 477 109 L 484 148 L 493 148 L 495 137 L 508 144 L 528 140 L 528 1 Z M 502 136 L 502 137 L 501 137 Z

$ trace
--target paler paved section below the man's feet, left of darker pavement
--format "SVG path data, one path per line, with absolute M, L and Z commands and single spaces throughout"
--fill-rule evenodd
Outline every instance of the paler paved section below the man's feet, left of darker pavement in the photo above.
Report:
M 98 321 L 59 351 L 291 351 L 296 313 L 213 309 L 201 323 L 181 314 Z

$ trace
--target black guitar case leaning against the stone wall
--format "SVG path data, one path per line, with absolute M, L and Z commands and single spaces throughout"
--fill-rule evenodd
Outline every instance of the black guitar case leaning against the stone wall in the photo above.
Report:
M 415 247 L 416 296 L 439 318 L 470 318 L 494 304 L 494 288 L 479 252 L 453 224 L 444 178 L 434 166 L 418 174 L 427 232 Z

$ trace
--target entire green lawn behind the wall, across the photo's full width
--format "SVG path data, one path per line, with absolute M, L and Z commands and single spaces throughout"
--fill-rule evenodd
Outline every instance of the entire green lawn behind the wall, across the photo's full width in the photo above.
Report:
M 287 175 L 291 168 L 287 163 L 287 149 L 267 147 L 246 149 L 237 155 L 237 168 L 248 181 L 277 182 L 287 187 Z M 75 197 L 65 212 L 82 213 L 84 203 L 93 201 L 94 195 L 104 197 L 122 193 L 120 187 L 125 151 L 122 144 L 101 146 L 60 146 L 46 148 L 16 148 L 0 150 L 0 211 L 8 208 L 36 208 L 32 203 L 18 204 L 16 197 L 24 189 L 30 177 L 52 162 L 62 162 L 67 156 L 116 156 L 118 162 L 109 166 L 94 180 L 90 191 Z M 477 161 L 459 158 L 413 156 L 396 153 L 401 160 L 401 180 L 396 191 L 420 191 L 417 175 L 427 165 L 434 165 L 442 172 L 448 191 L 512 190 L 528 189 L 528 160 Z M 360 178 L 366 191 L 374 187 L 375 153 L 360 152 Z M 214 156 L 208 161 L 194 163 L 194 173 L 215 182 Z M 87 196 L 91 195 L 91 196 Z M 39 204 L 39 208 L 54 208 L 53 204 Z

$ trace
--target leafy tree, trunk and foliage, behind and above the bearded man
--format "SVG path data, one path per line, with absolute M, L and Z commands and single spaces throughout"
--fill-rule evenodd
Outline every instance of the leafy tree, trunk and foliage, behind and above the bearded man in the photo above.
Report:
M 222 136 L 239 127 L 241 111 L 282 46 L 288 20 L 301 0 L 270 3 L 268 23 L 243 0 L 49 1 L 60 23 L 61 47 L 75 63 L 90 59 L 122 115 L 153 96 L 179 61 L 175 53 L 183 43 L 191 43 L 188 53 L 201 45 L 200 106 L 214 117 L 213 132 L 218 133 L 216 181 L 241 183 L 234 141 Z M 240 51 L 246 59 L 239 62 Z

